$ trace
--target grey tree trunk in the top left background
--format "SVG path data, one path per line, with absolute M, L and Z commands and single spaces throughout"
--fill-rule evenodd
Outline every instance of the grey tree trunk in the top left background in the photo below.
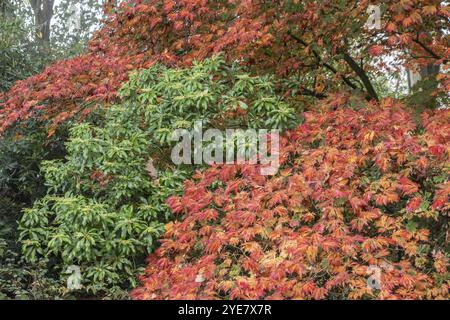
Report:
M 34 12 L 36 40 L 46 46 L 50 44 L 54 3 L 55 0 L 30 0 Z

